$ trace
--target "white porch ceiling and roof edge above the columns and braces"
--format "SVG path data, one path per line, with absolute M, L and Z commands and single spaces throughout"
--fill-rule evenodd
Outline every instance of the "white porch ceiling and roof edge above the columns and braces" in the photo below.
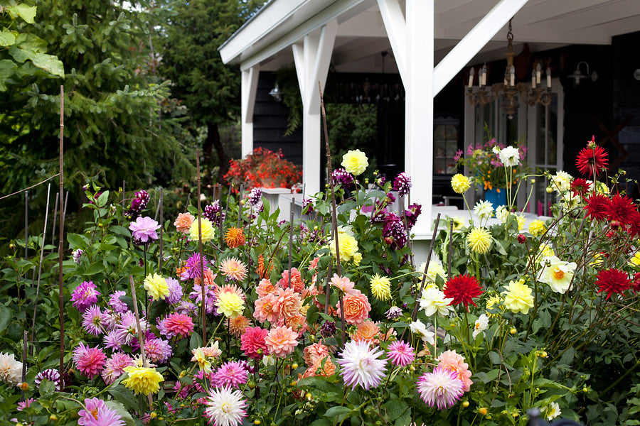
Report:
M 491 10 L 498 0 L 435 0 L 434 61 Z M 220 47 L 225 62 L 242 69 L 260 65 L 277 70 L 293 63 L 290 45 L 305 33 L 338 19 L 332 65 L 342 72 L 397 72 L 385 26 L 375 0 L 271 0 Z M 529 0 L 513 18 L 514 48 L 529 43 L 535 51 L 569 44 L 611 43 L 614 35 L 640 28 L 638 0 Z M 470 62 L 504 58 L 506 27 Z M 383 60 L 382 53 L 389 55 Z

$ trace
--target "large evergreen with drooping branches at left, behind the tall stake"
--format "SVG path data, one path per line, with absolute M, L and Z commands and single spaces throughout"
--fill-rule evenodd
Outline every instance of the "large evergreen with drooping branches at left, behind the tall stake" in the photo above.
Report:
M 26 75 L 0 97 L 0 158 L 11 192 L 58 168 L 59 92 L 65 86 L 65 180 L 117 188 L 188 175 L 180 128 L 161 120 L 169 82 L 154 75 L 153 13 L 146 0 L 41 0 L 33 33 L 64 64 L 65 77 Z M 9 160 L 7 160 L 9 159 Z M 166 165 L 166 164 L 169 165 Z M 164 175 L 159 175 L 162 171 Z

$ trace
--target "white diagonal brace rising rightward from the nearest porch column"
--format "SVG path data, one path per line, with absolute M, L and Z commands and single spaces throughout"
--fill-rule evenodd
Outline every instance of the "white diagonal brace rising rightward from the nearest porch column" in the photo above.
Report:
M 438 94 L 471 58 L 484 48 L 528 0 L 501 0 L 474 28 L 442 59 L 433 73 L 433 93 Z M 407 13 L 408 15 L 408 13 Z

